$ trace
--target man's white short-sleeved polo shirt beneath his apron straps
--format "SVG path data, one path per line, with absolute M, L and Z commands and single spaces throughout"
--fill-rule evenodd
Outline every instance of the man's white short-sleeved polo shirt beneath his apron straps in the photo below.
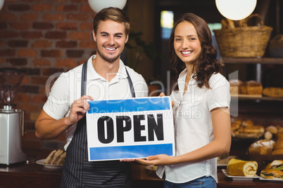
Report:
M 122 100 L 132 98 L 127 73 L 125 71 L 125 67 L 127 66 L 124 65 L 122 60 L 120 60 L 118 73 L 111 81 L 107 81 L 96 73 L 92 65 L 94 58 L 96 58 L 96 55 L 92 55 L 92 57 L 87 60 L 87 95 L 94 98 L 94 100 Z M 148 88 L 142 75 L 137 74 L 137 72 L 134 72 L 130 67 L 127 67 L 127 71 L 132 79 L 136 98 L 147 97 Z M 51 88 L 49 98 L 44 104 L 44 112 L 54 119 L 69 116 L 70 108 L 74 100 L 81 97 L 81 74 L 82 65 L 58 77 L 54 86 Z M 67 149 L 72 140 L 76 127 L 77 123 L 66 130 L 67 144 L 65 145 L 65 149 Z

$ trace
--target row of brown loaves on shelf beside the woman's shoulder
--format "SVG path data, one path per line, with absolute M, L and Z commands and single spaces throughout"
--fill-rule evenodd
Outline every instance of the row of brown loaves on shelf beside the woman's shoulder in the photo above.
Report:
M 266 87 L 263 88 L 259 81 L 241 81 L 231 79 L 230 94 L 236 98 L 260 98 L 262 100 L 283 100 L 283 88 Z

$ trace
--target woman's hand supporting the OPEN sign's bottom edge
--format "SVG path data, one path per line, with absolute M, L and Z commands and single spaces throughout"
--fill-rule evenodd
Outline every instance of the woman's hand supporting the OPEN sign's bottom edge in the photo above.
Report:
M 174 163 L 174 157 L 165 154 L 155 156 L 147 156 L 146 159 L 136 159 L 136 161 L 146 163 L 148 165 L 160 166 Z

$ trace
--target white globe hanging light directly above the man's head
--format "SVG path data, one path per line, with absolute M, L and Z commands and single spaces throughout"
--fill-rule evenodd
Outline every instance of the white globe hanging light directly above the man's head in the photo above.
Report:
M 117 7 L 124 8 L 127 0 L 88 0 L 89 6 L 94 10 L 94 12 L 98 13 L 101 9 L 106 7 Z

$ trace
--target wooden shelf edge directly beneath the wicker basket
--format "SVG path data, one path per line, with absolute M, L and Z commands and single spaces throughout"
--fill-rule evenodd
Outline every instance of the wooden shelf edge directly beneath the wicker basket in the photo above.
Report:
M 283 65 L 283 58 L 220 58 L 222 64 L 281 64 Z

